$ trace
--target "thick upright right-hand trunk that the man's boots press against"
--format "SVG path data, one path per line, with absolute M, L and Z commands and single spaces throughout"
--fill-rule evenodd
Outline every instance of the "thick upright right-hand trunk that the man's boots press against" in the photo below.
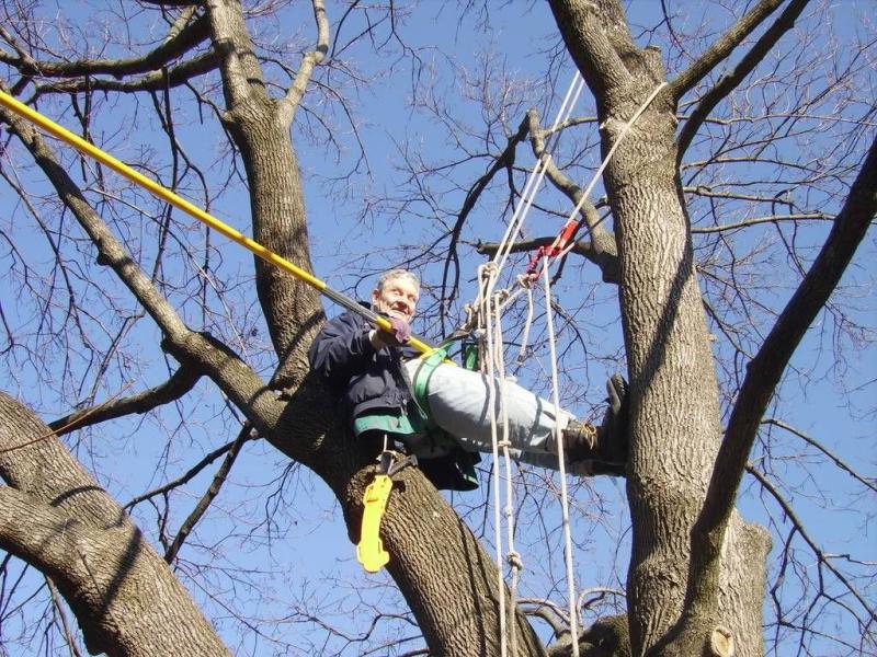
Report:
M 620 5 L 551 2 L 579 69 L 597 99 L 606 153 L 624 124 L 664 80 L 660 57 L 633 44 Z M 690 531 L 718 450 L 718 390 L 684 200 L 676 181 L 675 103 L 661 93 L 627 134 L 605 183 L 620 258 L 620 300 L 630 376 L 627 491 L 634 526 L 628 573 L 635 655 L 657 644 L 680 616 Z M 721 620 L 738 655 L 761 649 L 766 545 L 739 521 L 724 548 L 728 593 Z M 747 558 L 760 555 L 760 565 Z M 705 620 L 708 637 L 713 625 Z

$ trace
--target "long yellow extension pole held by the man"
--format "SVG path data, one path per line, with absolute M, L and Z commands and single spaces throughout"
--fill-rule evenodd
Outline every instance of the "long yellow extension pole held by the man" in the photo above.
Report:
M 49 135 L 57 137 L 62 141 L 66 141 L 67 143 L 69 143 L 77 150 L 81 151 L 82 153 L 89 155 L 94 160 L 98 160 L 102 164 L 105 164 L 116 173 L 128 178 L 134 184 L 141 186 L 148 192 L 151 192 L 160 199 L 166 200 L 175 208 L 183 210 L 185 214 L 194 217 L 202 223 L 209 226 L 212 229 L 224 234 L 229 240 L 237 242 L 248 251 L 254 253 L 263 261 L 288 272 L 299 280 L 311 286 L 317 291 L 332 299 L 333 301 L 340 303 L 348 310 L 364 315 L 369 322 L 375 324 L 378 328 L 383 328 L 384 331 L 388 332 L 392 330 L 392 325 L 386 318 L 375 312 L 372 312 L 366 308 L 363 308 L 352 299 L 341 295 L 340 292 L 332 290 L 330 287 L 326 285 L 324 281 L 320 280 L 309 272 L 306 272 L 301 267 L 294 265 L 285 257 L 277 255 L 273 251 L 265 249 L 259 242 L 251 240 L 250 238 L 235 230 L 227 223 L 219 221 L 219 219 L 217 219 L 209 212 L 206 212 L 196 205 L 189 203 L 185 198 L 179 196 L 178 194 L 174 194 L 173 192 L 160 185 L 156 181 L 146 177 L 145 175 L 135 171 L 121 160 L 115 159 L 106 151 L 103 151 L 93 143 L 86 141 L 79 135 L 75 135 L 64 126 L 56 124 L 50 118 L 39 114 L 32 107 L 29 107 L 27 105 L 18 101 L 15 97 L 9 95 L 2 90 L 0 90 L 0 104 L 2 104 L 7 110 L 10 110 L 15 114 L 18 114 L 19 116 L 30 120 L 34 125 L 39 126 L 43 130 L 45 130 Z M 409 344 L 419 351 L 424 354 L 432 350 L 432 347 L 429 344 L 424 343 L 417 336 L 411 336 L 411 341 Z

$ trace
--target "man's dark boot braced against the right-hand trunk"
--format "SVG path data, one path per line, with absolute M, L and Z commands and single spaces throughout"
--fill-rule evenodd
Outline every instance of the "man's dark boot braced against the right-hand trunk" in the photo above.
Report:
M 627 469 L 627 381 L 613 374 L 606 381 L 608 407 L 599 427 L 570 420 L 563 429 L 563 451 L 570 463 L 590 462 L 588 474 L 624 476 Z

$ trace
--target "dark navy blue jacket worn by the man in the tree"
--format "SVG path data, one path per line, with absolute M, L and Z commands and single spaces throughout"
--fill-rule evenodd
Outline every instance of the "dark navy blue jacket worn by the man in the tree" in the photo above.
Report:
M 320 331 L 308 354 L 310 368 L 329 388 L 348 420 L 376 408 L 401 411 L 411 399 L 402 378 L 406 348 L 375 349 L 368 339 L 372 325 L 345 312 Z

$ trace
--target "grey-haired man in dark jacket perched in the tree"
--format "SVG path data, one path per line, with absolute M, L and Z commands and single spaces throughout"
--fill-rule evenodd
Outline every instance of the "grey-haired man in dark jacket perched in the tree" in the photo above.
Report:
M 418 456 L 436 487 L 470 489 L 477 486 L 476 452 L 492 450 L 490 381 L 446 362 L 432 366 L 406 347 L 419 298 L 420 281 L 412 273 L 385 273 L 372 291 L 372 307 L 392 331 L 374 328 L 352 312 L 341 314 L 314 341 L 310 365 L 354 435 L 369 443 L 368 451 L 398 443 Z M 428 384 L 422 395 L 412 395 L 412 382 L 421 378 Z M 556 414 L 553 403 L 514 383 L 496 380 L 493 388 L 501 388 L 498 402 L 505 406 L 514 458 L 557 468 L 559 429 L 573 473 L 624 475 L 627 384 L 620 376 L 606 383 L 610 405 L 600 427 L 562 410 Z

